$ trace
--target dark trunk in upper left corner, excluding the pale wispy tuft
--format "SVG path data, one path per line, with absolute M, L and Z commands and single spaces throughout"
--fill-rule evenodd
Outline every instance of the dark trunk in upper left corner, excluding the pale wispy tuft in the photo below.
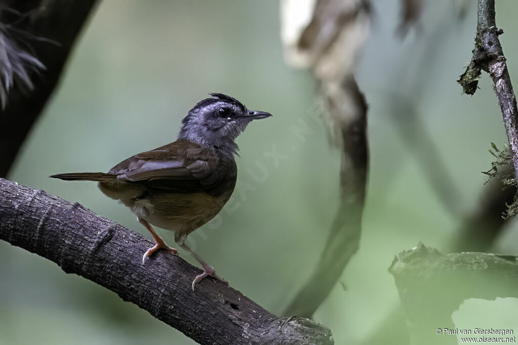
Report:
M 34 37 L 23 39 L 30 46 L 27 53 L 45 65 L 39 75 L 34 72 L 28 75 L 32 90 L 20 87 L 15 80 L 5 109 L 0 108 L 2 126 L 9 128 L 0 136 L 0 177 L 7 176 L 27 134 L 56 88 L 74 42 L 95 4 L 95 0 L 0 0 L 0 25 Z M 5 82 L 4 73 L 2 70 L 0 82 Z

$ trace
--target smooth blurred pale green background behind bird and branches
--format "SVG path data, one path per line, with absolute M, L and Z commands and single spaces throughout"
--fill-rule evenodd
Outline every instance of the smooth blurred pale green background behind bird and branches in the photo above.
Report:
M 464 20 L 455 16 L 450 0 L 427 3 L 421 30 L 403 40 L 395 34 L 398 6 L 396 0 L 374 2 L 374 23 L 358 67 L 357 80 L 369 103 L 370 146 L 361 246 L 340 279 L 347 291 L 337 284 L 314 315 L 332 329 L 337 344 L 361 343 L 398 305 L 387 272 L 396 253 L 419 241 L 447 248 L 462 222 L 437 197 L 415 148 L 401 140 L 397 128 L 407 114 L 404 107 L 394 110 L 394 100 L 415 102 L 457 187 L 461 214 L 477 205 L 485 182 L 480 171 L 491 167 L 488 145 L 506 140 L 489 78 L 483 75 L 473 97 L 462 95 L 455 82 L 471 57 L 474 2 Z M 515 2 L 497 3 L 515 83 L 517 9 Z M 233 287 L 281 313 L 324 246 L 339 200 L 340 162 L 325 127 L 310 117 L 318 109 L 312 77 L 283 61 L 279 21 L 279 4 L 272 0 L 100 3 L 9 178 L 77 201 L 148 236 L 129 210 L 93 182 L 48 176 L 107 171 L 128 156 L 174 141 L 180 120 L 209 92 L 269 111 L 273 118 L 252 123 L 237 140 L 238 189 L 248 189 L 234 194 L 233 205 L 239 207 L 232 214 L 227 207 L 220 226 L 205 225 L 191 234 L 190 243 Z M 312 130 L 303 141 L 290 130 L 299 119 Z M 273 147 L 287 155 L 278 165 L 265 155 Z M 248 172 L 259 173 L 257 161 L 267 168 L 264 182 Z M 159 229 L 159 234 L 174 243 L 172 233 Z M 516 254 L 509 243 L 506 250 Z M 193 343 L 116 294 L 66 275 L 41 257 L 6 243 L 0 243 L 0 253 L 1 344 Z M 455 322 L 462 322 L 466 310 L 455 314 Z M 469 312 L 483 315 L 485 310 L 480 304 Z M 516 310 L 502 312 L 516 320 Z

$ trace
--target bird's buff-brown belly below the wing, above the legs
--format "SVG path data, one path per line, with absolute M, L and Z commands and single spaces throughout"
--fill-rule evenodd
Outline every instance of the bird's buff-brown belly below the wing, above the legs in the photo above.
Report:
M 205 193 L 163 193 L 136 200 L 131 210 L 155 226 L 191 232 L 214 218 L 227 200 Z

